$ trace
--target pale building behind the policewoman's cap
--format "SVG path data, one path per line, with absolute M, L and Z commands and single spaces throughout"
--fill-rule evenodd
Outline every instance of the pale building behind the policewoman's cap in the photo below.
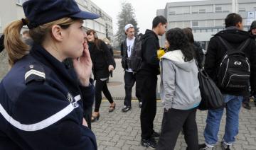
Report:
M 6 25 L 11 21 L 24 18 L 22 4 L 26 0 L 1 0 L 0 1 L 0 34 L 3 33 Z M 90 11 L 97 13 L 100 18 L 91 21 L 85 20 L 84 26 L 87 29 L 93 29 L 97 31 L 97 35 L 100 38 L 108 37 L 110 40 L 113 39 L 112 29 L 112 17 L 105 13 L 100 7 L 94 4 L 90 0 L 75 0 L 82 11 Z M 54 15 L 54 14 L 53 14 Z M 22 30 L 26 30 L 24 27 Z

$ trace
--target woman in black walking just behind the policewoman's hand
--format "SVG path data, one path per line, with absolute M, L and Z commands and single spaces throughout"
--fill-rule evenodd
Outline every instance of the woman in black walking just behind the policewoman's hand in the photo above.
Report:
M 107 88 L 107 79 L 109 79 L 110 71 L 115 68 L 114 57 L 110 53 L 109 48 L 97 37 L 95 30 L 87 30 L 87 40 L 92 58 L 92 73 L 95 83 L 95 110 L 92 113 L 92 122 L 100 118 L 100 104 L 102 102 L 102 92 L 110 102 L 109 113 L 112 113 L 116 107 L 110 91 Z

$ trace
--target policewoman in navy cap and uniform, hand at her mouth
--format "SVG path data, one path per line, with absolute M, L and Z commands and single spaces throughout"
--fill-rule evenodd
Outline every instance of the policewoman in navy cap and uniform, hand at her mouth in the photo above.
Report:
M 81 11 L 74 0 L 29 0 L 26 18 L 4 30 L 11 70 L 0 83 L 0 149 L 97 149 L 82 117 L 82 101 L 93 102 L 92 61 Z M 22 42 L 27 25 L 33 47 Z M 75 76 L 62 63 L 72 58 Z

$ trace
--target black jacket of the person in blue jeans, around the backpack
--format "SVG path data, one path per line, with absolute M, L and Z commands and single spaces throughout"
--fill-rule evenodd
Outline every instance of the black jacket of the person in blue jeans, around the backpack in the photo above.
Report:
M 208 50 L 206 54 L 206 63 L 205 69 L 209 76 L 217 83 L 217 74 L 220 66 L 220 62 L 226 54 L 226 49 L 222 42 L 218 39 L 218 36 L 223 37 L 223 39 L 227 40 L 230 45 L 234 48 L 239 47 L 239 45 L 247 40 L 248 38 L 252 38 L 247 32 L 238 30 L 238 29 L 230 29 L 230 30 L 222 30 L 214 37 L 210 39 Z M 251 89 L 255 91 L 256 85 L 256 46 L 255 41 L 253 39 L 250 40 L 249 44 L 244 50 L 245 56 L 250 60 L 251 74 L 250 74 L 250 85 Z M 223 93 L 228 93 L 230 95 L 235 96 L 246 96 L 248 94 L 247 89 L 238 92 L 226 92 L 225 89 L 220 89 Z

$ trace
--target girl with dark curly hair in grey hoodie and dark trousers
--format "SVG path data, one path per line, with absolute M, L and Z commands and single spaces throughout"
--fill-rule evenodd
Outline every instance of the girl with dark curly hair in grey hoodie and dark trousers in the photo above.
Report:
M 169 50 L 161 57 L 161 100 L 164 117 L 156 149 L 172 150 L 183 128 L 188 150 L 198 149 L 196 109 L 201 102 L 193 47 L 180 28 L 166 33 Z

